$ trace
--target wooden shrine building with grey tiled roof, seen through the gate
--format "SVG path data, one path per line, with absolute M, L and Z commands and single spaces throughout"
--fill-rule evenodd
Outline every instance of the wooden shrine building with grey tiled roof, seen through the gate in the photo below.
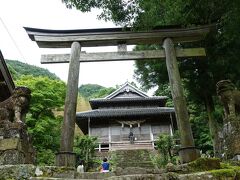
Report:
M 78 112 L 76 123 L 84 134 L 98 137 L 99 151 L 154 149 L 160 133 L 173 135 L 177 129 L 174 108 L 165 107 L 166 101 L 127 82 L 105 98 L 90 100 L 92 110 Z

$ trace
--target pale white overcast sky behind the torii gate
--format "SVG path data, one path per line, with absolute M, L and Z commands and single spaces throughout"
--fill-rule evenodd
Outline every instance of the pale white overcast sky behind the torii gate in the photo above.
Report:
M 69 64 L 40 64 L 41 54 L 70 53 L 70 49 L 40 49 L 23 27 L 42 29 L 111 28 L 111 22 L 98 20 L 99 10 L 81 13 L 67 9 L 61 0 L 0 0 L 0 49 L 5 59 L 19 60 L 55 73 L 67 82 Z M 128 47 L 128 50 L 132 47 Z M 117 51 L 116 47 L 82 48 L 87 52 Z M 133 79 L 134 62 L 81 63 L 79 86 L 99 84 L 115 87 Z M 136 81 L 135 81 L 136 82 Z

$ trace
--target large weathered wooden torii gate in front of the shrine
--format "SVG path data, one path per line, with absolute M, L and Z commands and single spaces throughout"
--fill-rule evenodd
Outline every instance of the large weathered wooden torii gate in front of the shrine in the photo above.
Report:
M 69 48 L 71 55 L 42 55 L 41 63 L 68 63 L 68 82 L 64 108 L 64 124 L 61 131 L 60 151 L 56 157 L 58 166 L 75 166 L 73 153 L 74 126 L 78 95 L 80 62 L 125 61 L 141 59 L 166 58 L 169 82 L 171 86 L 178 129 L 180 131 L 181 149 L 179 155 L 182 163 L 199 157 L 195 148 L 186 99 L 179 74 L 176 57 L 206 56 L 204 48 L 175 49 L 174 43 L 202 40 L 212 25 L 193 28 L 170 28 L 153 31 L 134 32 L 129 28 L 82 29 L 82 30 L 46 30 L 25 27 L 31 40 L 39 48 Z M 125 45 L 160 44 L 164 50 L 125 51 Z M 81 47 L 119 46 L 119 52 L 85 53 Z

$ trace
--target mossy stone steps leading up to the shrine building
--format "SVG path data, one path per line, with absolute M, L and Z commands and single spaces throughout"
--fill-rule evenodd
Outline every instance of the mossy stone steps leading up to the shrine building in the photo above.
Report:
M 111 161 L 116 167 L 123 169 L 130 167 L 153 169 L 154 165 L 150 156 L 154 152 L 148 149 L 116 150 L 111 152 Z

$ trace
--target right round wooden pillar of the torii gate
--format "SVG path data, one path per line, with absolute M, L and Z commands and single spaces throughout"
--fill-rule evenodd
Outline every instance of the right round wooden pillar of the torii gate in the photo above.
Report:
M 187 163 L 197 159 L 199 157 L 199 152 L 194 145 L 186 99 L 183 94 L 182 81 L 180 78 L 176 52 L 172 39 L 166 38 L 163 42 L 163 47 L 166 54 L 168 77 L 177 117 L 178 129 L 180 131 L 180 160 L 181 163 Z

